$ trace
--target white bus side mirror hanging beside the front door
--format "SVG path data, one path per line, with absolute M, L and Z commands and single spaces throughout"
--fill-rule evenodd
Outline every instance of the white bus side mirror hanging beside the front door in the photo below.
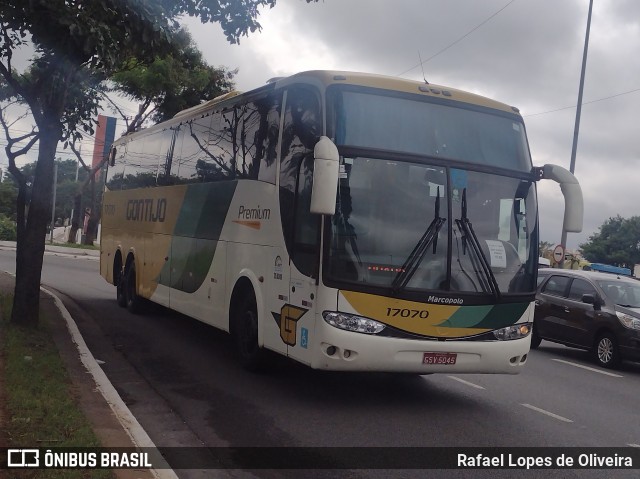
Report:
M 313 186 L 311 213 L 333 215 L 336 212 L 340 156 L 338 148 L 326 136 L 321 136 L 313 149 Z

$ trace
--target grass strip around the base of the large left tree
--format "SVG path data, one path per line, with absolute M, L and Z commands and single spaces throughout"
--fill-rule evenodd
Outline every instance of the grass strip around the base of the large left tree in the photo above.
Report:
M 91 425 L 79 409 L 46 315 L 36 329 L 16 326 L 11 295 L 0 295 L 0 347 L 4 370 L 4 430 L 8 447 L 99 447 Z M 110 470 L 11 470 L 12 478 L 113 478 Z

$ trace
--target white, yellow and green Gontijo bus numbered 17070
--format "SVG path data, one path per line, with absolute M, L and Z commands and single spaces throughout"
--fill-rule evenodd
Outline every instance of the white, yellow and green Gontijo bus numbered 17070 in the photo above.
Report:
M 312 368 L 517 373 L 538 267 L 533 167 L 516 108 L 370 74 L 310 71 L 116 141 L 104 278 Z

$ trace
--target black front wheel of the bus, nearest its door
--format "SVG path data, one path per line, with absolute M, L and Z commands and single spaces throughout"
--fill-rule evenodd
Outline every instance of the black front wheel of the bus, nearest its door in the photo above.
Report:
M 258 345 L 258 309 L 253 294 L 245 295 L 234 308 L 234 341 L 242 366 L 260 371 L 265 366 L 265 351 Z

